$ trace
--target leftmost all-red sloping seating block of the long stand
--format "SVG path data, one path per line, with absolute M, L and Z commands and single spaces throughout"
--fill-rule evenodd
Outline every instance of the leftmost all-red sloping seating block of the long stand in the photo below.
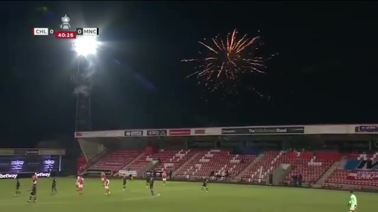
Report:
M 106 155 L 89 169 L 118 171 L 141 154 L 140 151 L 116 150 Z

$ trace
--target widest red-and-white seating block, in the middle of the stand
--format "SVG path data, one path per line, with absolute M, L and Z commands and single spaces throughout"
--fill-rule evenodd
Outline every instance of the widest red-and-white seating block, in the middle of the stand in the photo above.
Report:
M 189 178 L 191 176 L 203 178 L 208 177 L 212 171 L 214 175 L 233 178 L 245 169 L 248 164 L 256 158 L 256 155 L 232 155 L 228 150 L 212 149 L 200 151 L 188 164 L 176 174 L 178 178 Z

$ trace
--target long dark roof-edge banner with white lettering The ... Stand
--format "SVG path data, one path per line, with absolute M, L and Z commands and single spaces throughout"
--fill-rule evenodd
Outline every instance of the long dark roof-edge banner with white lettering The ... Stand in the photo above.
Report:
M 223 128 L 222 134 L 304 134 L 304 127 Z

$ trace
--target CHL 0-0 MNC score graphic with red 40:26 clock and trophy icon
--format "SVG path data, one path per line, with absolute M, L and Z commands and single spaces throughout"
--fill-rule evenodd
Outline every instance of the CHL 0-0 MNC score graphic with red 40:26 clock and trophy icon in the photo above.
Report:
M 67 14 L 62 17 L 62 23 L 60 24 L 60 29 L 55 30 L 53 28 L 33 28 L 33 35 L 45 35 L 53 36 L 58 39 L 74 39 L 76 36 L 81 35 L 91 35 L 97 36 L 99 34 L 99 28 L 76 28 L 75 31 L 71 29 L 70 18 Z

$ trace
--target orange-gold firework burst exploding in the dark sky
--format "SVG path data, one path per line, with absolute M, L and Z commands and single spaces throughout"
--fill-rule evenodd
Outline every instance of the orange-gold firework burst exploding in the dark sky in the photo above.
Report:
M 245 75 L 264 74 L 266 60 L 257 55 L 257 50 L 262 45 L 260 37 L 249 38 L 245 34 L 238 38 L 237 33 L 234 29 L 223 40 L 217 36 L 198 41 L 205 49 L 199 51 L 200 57 L 182 60 L 200 63 L 195 68 L 196 71 L 187 78 L 195 76 L 198 83 L 204 84 L 211 92 L 220 88 L 231 92 Z

